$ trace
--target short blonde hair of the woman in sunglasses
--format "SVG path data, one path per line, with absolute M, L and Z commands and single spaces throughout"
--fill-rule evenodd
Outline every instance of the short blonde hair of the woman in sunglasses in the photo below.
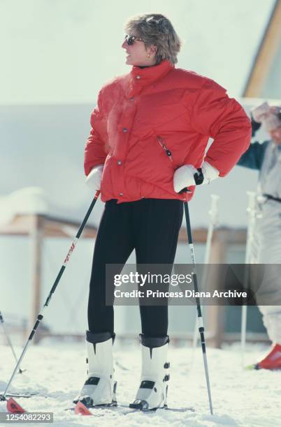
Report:
M 158 13 L 145 13 L 129 18 L 125 24 L 125 31 L 141 38 L 145 47 L 155 45 L 157 47 L 156 63 L 167 59 L 171 63 L 177 63 L 177 54 L 182 45 L 173 25 L 164 15 Z

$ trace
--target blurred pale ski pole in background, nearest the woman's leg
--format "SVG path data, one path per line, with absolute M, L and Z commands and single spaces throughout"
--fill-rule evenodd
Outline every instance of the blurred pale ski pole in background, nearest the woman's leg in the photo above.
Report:
M 211 206 L 210 206 L 210 211 L 208 212 L 210 214 L 210 224 L 208 227 L 208 234 L 207 234 L 207 240 L 206 240 L 204 264 L 208 264 L 208 262 L 210 262 L 212 234 L 214 232 L 215 227 L 217 227 L 217 222 L 218 222 L 218 209 L 217 209 L 218 200 L 219 200 L 218 195 L 211 194 Z M 207 274 L 207 271 L 206 269 L 204 269 L 203 280 L 202 280 L 203 286 L 205 286 L 206 284 L 206 274 Z M 198 341 L 198 317 L 196 316 L 196 320 L 194 324 L 193 341 L 192 341 L 192 364 L 194 361 L 194 351 L 197 347 L 197 341 Z

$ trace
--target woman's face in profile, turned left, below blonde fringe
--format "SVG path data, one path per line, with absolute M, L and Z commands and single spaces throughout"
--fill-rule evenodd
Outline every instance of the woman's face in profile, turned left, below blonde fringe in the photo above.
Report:
M 134 34 L 130 34 L 134 36 Z M 126 63 L 131 66 L 147 67 L 153 66 L 156 63 L 156 47 L 150 46 L 145 48 L 145 43 L 141 40 L 134 40 L 132 45 L 128 45 L 125 39 L 122 47 L 126 50 Z

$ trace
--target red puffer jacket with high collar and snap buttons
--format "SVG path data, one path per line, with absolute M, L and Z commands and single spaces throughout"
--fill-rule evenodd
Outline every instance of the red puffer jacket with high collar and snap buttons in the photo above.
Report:
M 169 61 L 133 67 L 99 93 L 85 147 L 85 174 L 104 164 L 101 200 L 190 200 L 173 189 L 182 165 L 203 160 L 224 177 L 250 144 L 251 124 L 226 90 Z M 208 138 L 214 141 L 205 156 Z

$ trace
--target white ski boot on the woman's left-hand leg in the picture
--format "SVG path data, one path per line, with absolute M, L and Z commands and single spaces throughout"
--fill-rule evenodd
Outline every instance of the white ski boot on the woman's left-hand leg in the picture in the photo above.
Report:
M 86 332 L 88 378 L 73 403 L 82 402 L 87 407 L 117 405 L 113 369 L 113 341 L 109 332 Z

